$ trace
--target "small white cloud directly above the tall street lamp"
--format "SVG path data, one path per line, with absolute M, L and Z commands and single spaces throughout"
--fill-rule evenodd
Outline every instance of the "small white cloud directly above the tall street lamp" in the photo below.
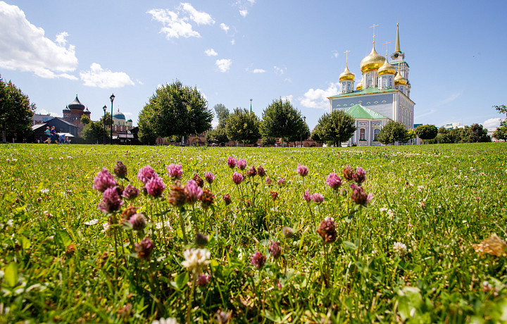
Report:
M 87 87 L 109 89 L 134 85 L 127 73 L 104 70 L 98 63 L 92 63 L 89 70 L 80 72 L 80 77 Z

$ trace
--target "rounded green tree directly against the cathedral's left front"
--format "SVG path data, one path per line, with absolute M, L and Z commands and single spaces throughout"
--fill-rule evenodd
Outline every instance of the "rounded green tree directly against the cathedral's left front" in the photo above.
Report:
M 349 140 L 356 131 L 356 120 L 342 110 L 334 110 L 325 113 L 318 120 L 317 127 L 313 131 L 312 139 L 315 142 L 332 142 L 338 147 L 342 142 Z

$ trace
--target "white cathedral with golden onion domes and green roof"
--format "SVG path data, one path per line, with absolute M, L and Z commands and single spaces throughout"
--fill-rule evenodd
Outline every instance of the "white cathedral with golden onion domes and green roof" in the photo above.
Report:
M 377 136 L 389 120 L 401 122 L 408 129 L 413 129 L 415 103 L 410 99 L 408 64 L 405 53 L 400 50 L 398 24 L 396 46 L 391 59 L 389 63 L 387 55 L 384 58 L 375 51 L 374 40 L 371 53 L 363 58 L 359 66 L 363 76 L 356 85 L 356 90 L 356 76 L 349 70 L 347 60 L 344 72 L 339 75 L 339 94 L 327 98 L 330 101 L 330 112 L 342 109 L 356 120 L 356 132 L 349 142 L 343 144 L 381 145 Z

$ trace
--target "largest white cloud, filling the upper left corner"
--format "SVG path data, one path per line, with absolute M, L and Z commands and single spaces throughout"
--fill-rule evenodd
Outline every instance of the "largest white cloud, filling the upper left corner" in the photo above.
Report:
M 65 77 L 77 80 L 75 46 L 65 47 L 66 32 L 56 36 L 56 43 L 44 36 L 41 27 L 32 25 L 25 13 L 0 1 L 0 68 L 35 73 L 39 77 Z

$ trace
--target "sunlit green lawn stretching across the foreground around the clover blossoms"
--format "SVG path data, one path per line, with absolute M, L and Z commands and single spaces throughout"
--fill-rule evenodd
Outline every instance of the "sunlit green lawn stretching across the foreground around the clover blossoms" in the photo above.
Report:
M 227 156 L 245 158 L 247 168 L 262 165 L 273 185 L 256 176 L 237 187 Z M 142 235 L 104 231 L 108 215 L 97 208 L 102 195 L 92 186 L 99 170 L 112 173 L 117 160 L 139 188 L 137 171 L 152 166 L 168 185 L 165 197 L 170 163 L 182 163 L 183 184 L 194 173 L 215 175 L 213 207 L 186 206 L 183 215 L 187 235 L 199 228 L 210 238 L 208 285 L 192 289 L 181 263 L 183 251 L 195 245 L 184 244 L 179 211 L 166 199 L 141 194 L 132 203 L 150 220 L 142 234 L 155 245 L 149 262 L 132 246 Z M 308 166 L 308 176 L 296 174 L 298 163 Z M 335 195 L 326 185 L 326 176 L 342 176 L 346 165 L 366 171 L 363 187 L 374 197 L 366 208 L 353 204 L 351 189 Z M 504 143 L 340 149 L 6 144 L 0 146 L 0 322 L 175 317 L 185 323 L 190 311 L 192 321 L 212 323 L 220 310 L 232 312 L 231 323 L 497 323 L 507 320 L 507 258 L 477 254 L 472 244 L 493 233 L 506 239 L 506 183 Z M 324 194 L 325 202 L 311 204 L 310 212 L 305 189 Z M 334 218 L 339 237 L 323 246 L 317 229 L 325 217 Z M 156 229 L 161 220 L 170 227 Z M 282 235 L 284 226 L 294 237 Z M 270 240 L 280 242 L 278 260 L 268 252 Z M 406 244 L 406 255 L 395 253 L 396 242 Z M 255 251 L 268 257 L 261 269 L 250 263 Z

